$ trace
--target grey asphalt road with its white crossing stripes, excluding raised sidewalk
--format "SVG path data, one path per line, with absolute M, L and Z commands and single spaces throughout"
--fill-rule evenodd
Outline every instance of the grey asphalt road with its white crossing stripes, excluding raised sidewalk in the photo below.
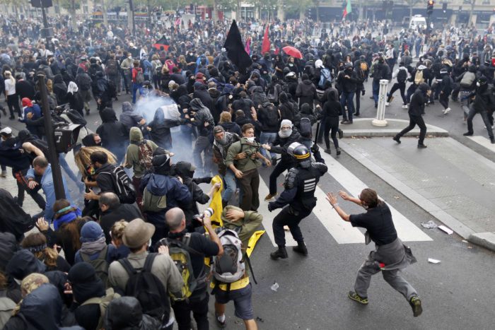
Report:
M 371 80 L 366 84 L 366 95 L 361 97 L 361 117 L 375 117 L 370 95 Z M 122 95 L 114 103 L 117 117 L 122 111 L 122 102 L 127 100 L 130 100 L 129 95 Z M 387 107 L 385 117 L 408 119 L 407 110 L 402 110 L 401 105 L 397 92 L 395 100 Z M 495 160 L 492 151 L 462 136 L 467 127 L 462 121 L 460 105 L 451 102 L 450 107 L 453 110 L 447 115 L 442 114 L 443 108 L 438 102 L 426 107 L 425 122 L 447 129 L 454 139 Z M 95 109 L 94 102 L 92 109 Z M 100 124 L 95 110 L 87 119 L 93 131 Z M 4 118 L 2 124 L 23 128 L 23 124 L 8 122 Z M 481 117 L 475 117 L 474 134 L 487 138 L 483 126 Z M 428 144 L 428 139 L 425 143 Z M 263 198 L 267 194 L 271 169 L 260 169 L 259 211 L 264 216 L 267 234 L 260 239 L 251 257 L 258 282 L 257 285 L 252 283 L 252 301 L 259 328 L 494 329 L 495 254 L 463 241 L 458 235 L 422 228 L 422 222 L 436 219 L 402 196 L 400 191 L 390 187 L 344 152 L 338 158 L 333 154 L 323 155 L 329 164 L 329 173 L 318 184 L 318 205 L 301 222 L 308 257 L 301 257 L 288 247 L 288 259 L 273 261 L 269 258 L 269 253 L 274 250 L 274 242 L 269 235 L 272 218 L 280 210 L 267 211 L 267 202 Z M 283 179 L 279 177 L 279 192 Z M 416 288 L 423 302 L 424 312 L 418 318 L 412 316 L 408 302 L 380 274 L 371 281 L 367 306 L 347 297 L 347 292 L 354 287 L 356 271 L 373 245 L 366 246 L 362 232 L 344 223 L 322 194 L 339 189 L 351 191 L 362 185 L 377 190 L 380 197 L 395 209 L 394 219 L 399 236 L 417 257 L 418 262 L 405 269 L 403 275 Z M 362 208 L 350 202 L 339 201 L 339 205 L 347 213 L 363 212 Z M 293 244 L 289 232 L 286 232 L 286 238 L 288 245 Z M 430 264 L 428 258 L 441 260 L 441 263 Z M 276 291 L 270 288 L 274 283 L 279 284 Z M 216 329 L 213 300 L 211 297 L 210 328 Z M 226 317 L 227 329 L 243 329 L 243 322 L 233 315 L 232 304 L 228 305 Z

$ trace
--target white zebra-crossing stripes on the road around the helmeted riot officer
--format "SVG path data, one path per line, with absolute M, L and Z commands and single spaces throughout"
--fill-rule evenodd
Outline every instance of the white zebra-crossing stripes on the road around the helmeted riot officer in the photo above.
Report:
M 366 188 L 361 179 L 356 177 L 351 171 L 347 170 L 344 165 L 339 163 L 337 160 L 332 158 L 332 156 L 325 153 L 322 154 L 325 159 L 325 163 L 328 166 L 328 173 L 324 177 L 320 178 L 322 180 L 328 179 L 326 176 L 332 176 L 339 184 L 342 185 L 343 189 L 348 191 L 352 196 L 357 196 L 361 190 Z M 279 189 L 280 190 L 280 189 Z M 258 212 L 263 216 L 263 227 L 267 231 L 267 235 L 272 244 L 276 246 L 274 242 L 274 235 L 272 231 L 272 220 L 280 210 L 275 210 L 272 212 L 268 211 L 268 202 L 264 201 L 263 198 L 269 192 L 267 184 L 262 178 L 260 178 L 260 208 Z M 280 192 L 280 191 L 279 191 Z M 337 244 L 352 244 L 352 243 L 363 243 L 364 235 L 358 228 L 353 228 L 350 223 L 342 220 L 337 212 L 331 210 L 330 204 L 325 199 L 325 191 L 320 187 L 316 187 L 315 196 L 318 198 L 318 202 L 313 208 L 313 215 L 318 218 L 323 227 L 331 235 Z M 380 197 L 381 198 L 381 197 Z M 386 202 L 386 200 L 385 200 Z M 390 211 L 392 213 L 392 219 L 397 230 L 397 235 L 404 242 L 419 242 L 419 241 L 431 241 L 431 237 L 426 235 L 421 228 L 414 225 L 409 219 L 407 219 L 402 213 L 393 208 L 388 204 Z M 296 241 L 293 240 L 290 232 L 286 232 L 286 246 L 295 246 Z

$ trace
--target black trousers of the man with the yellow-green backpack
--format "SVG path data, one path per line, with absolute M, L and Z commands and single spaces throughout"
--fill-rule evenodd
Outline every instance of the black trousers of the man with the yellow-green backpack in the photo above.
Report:
M 173 302 L 172 308 L 179 330 L 191 329 L 191 312 L 197 324 L 197 330 L 209 330 L 208 322 L 209 294 L 204 293 L 201 300 L 190 299 L 189 302 Z

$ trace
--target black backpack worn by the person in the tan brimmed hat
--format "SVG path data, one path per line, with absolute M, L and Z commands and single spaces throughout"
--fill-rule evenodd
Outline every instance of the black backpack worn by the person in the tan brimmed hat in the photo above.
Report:
M 163 283 L 151 273 L 151 266 L 157 255 L 157 253 L 148 254 L 142 269 L 135 269 L 127 258 L 120 259 L 119 262 L 129 274 L 125 295 L 139 300 L 143 314 L 166 323 L 170 318 L 170 297 Z

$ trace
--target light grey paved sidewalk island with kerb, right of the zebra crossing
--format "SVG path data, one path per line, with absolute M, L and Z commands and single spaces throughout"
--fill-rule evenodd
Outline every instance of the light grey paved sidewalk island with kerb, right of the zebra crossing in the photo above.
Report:
M 495 251 L 495 163 L 434 126 L 428 127 L 426 149 L 417 149 L 412 137 L 397 144 L 390 136 L 407 121 L 388 122 L 385 128 L 372 126 L 371 119 L 341 125 L 342 150 L 461 237 Z

